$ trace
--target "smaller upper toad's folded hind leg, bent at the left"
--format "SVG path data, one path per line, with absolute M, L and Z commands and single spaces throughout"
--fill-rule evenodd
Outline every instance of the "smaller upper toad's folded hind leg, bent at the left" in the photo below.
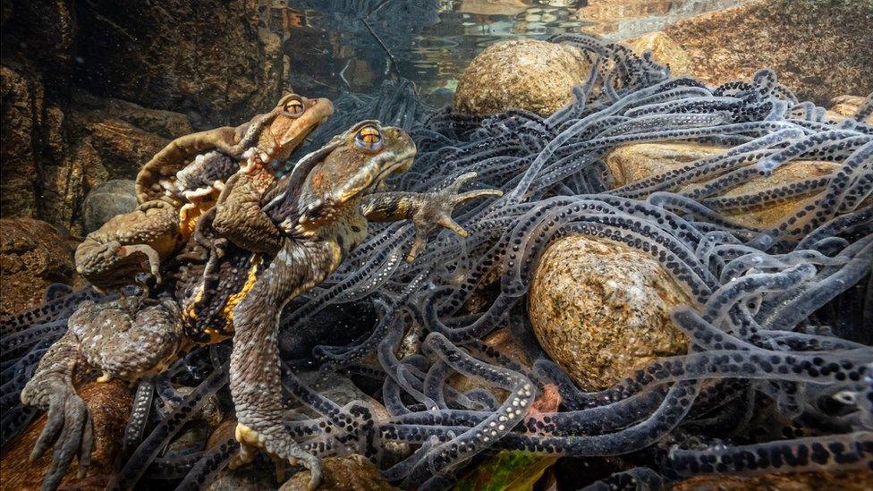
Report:
M 103 290 L 132 284 L 140 273 L 160 283 L 161 259 L 173 252 L 179 233 L 178 210 L 148 201 L 89 233 L 76 248 L 76 270 Z

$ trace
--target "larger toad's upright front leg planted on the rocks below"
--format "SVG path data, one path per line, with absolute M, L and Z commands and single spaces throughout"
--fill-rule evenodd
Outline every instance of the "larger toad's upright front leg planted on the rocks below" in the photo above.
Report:
M 325 243 L 301 244 L 286 239 L 246 297 L 233 309 L 233 353 L 230 385 L 236 407 L 240 461 L 254 450 L 301 463 L 311 472 L 309 488 L 321 480 L 318 459 L 303 451 L 284 429 L 282 380 L 276 335 L 278 317 L 287 301 L 321 283 L 338 258 Z

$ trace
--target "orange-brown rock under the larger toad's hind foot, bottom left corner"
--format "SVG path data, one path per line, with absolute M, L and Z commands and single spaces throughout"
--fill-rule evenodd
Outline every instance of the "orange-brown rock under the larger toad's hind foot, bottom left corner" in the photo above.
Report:
M 104 489 L 109 481 L 115 455 L 121 450 L 124 428 L 131 413 L 133 396 L 127 385 L 120 380 L 106 383 L 89 382 L 79 390 L 88 404 L 94 425 L 94 453 L 91 465 L 84 478 L 77 478 L 78 464 L 73 463 L 61 486 L 75 489 Z M 36 443 L 47 416 L 43 414 L 30 425 L 3 453 L 3 472 L 0 487 L 3 489 L 38 489 L 52 461 L 49 451 L 33 463 L 28 461 L 30 450 Z

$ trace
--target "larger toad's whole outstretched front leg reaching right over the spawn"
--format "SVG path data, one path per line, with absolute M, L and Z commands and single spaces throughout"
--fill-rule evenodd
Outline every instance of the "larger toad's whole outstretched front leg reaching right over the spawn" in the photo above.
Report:
M 476 173 L 463 174 L 445 190 L 433 193 L 396 191 L 371 194 L 363 204 L 364 216 L 374 222 L 411 219 L 415 225 L 415 241 L 406 256 L 406 260 L 411 262 L 424 249 L 428 243 L 428 234 L 437 226 L 443 226 L 462 237 L 467 236 L 467 231 L 452 219 L 454 207 L 470 199 L 503 196 L 502 190 L 471 190 L 459 193 L 463 184 L 474 177 Z

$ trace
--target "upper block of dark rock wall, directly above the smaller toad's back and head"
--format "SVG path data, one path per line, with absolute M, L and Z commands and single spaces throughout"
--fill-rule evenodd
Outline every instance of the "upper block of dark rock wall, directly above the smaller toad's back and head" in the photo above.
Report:
M 232 123 L 280 94 L 279 39 L 259 28 L 258 0 L 163 1 L 159 8 L 111 0 L 77 4 L 89 91 L 144 106 Z M 267 11 L 268 12 L 268 11 Z

